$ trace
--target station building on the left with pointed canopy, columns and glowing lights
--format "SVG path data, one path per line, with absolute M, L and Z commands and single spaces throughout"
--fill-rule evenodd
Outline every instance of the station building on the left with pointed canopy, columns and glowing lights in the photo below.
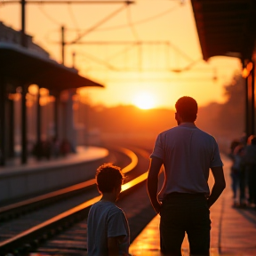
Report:
M 83 132 L 77 137 L 74 125 L 76 88 L 104 87 L 52 60 L 32 36 L 24 36 L 26 47 L 21 31 L 0 21 L 0 165 L 16 152 L 26 164 L 32 148 L 52 138 L 76 150 L 84 138 Z

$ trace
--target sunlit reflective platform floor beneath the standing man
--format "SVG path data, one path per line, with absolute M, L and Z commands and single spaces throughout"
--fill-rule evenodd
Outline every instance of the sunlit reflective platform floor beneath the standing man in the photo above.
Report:
M 227 187 L 211 208 L 211 256 L 256 256 L 255 208 L 234 208 L 230 186 L 230 161 L 222 156 Z M 210 183 L 212 182 L 210 177 Z M 211 185 L 210 185 L 211 187 Z M 159 220 L 157 215 L 135 238 L 132 256 L 160 256 Z M 172 243 L 172 242 L 170 242 Z M 182 244 L 183 256 L 189 255 L 188 238 Z

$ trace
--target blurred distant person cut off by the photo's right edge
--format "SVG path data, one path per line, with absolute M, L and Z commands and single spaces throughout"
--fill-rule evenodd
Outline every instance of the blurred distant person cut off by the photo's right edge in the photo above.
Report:
M 244 164 L 248 173 L 248 203 L 256 205 L 256 136 L 248 138 L 247 145 L 244 147 Z

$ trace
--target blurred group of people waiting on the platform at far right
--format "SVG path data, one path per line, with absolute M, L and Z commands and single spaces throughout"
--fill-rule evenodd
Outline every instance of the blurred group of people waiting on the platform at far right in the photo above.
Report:
M 229 157 L 234 207 L 256 207 L 256 136 L 233 140 Z M 255 208 L 256 209 L 256 208 Z

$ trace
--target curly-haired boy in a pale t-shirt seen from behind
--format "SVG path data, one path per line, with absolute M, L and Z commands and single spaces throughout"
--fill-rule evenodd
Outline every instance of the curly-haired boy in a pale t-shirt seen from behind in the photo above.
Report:
M 124 180 L 123 173 L 115 165 L 103 164 L 97 169 L 96 180 L 102 197 L 92 205 L 87 219 L 88 256 L 128 256 L 128 221 L 124 211 L 116 206 Z

